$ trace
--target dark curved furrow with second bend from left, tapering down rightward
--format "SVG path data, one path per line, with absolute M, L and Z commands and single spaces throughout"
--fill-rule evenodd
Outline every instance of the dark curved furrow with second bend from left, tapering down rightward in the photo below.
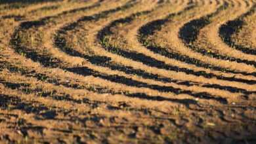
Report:
M 83 22 L 83 21 L 79 21 L 79 22 Z M 78 26 L 75 26 L 75 27 L 78 27 Z M 68 26 L 62 27 L 57 32 L 56 37 L 54 38 L 54 44 L 58 48 L 60 48 L 62 51 L 69 54 L 70 56 L 84 58 L 85 60 L 87 60 L 87 62 L 90 62 L 93 65 L 108 67 L 114 71 L 122 71 L 123 73 L 126 73 L 126 74 L 138 75 L 139 77 L 142 77 L 144 79 L 153 79 L 155 81 L 161 81 L 161 82 L 178 82 L 177 80 L 170 79 L 167 77 L 160 77 L 160 75 L 157 75 L 157 74 L 147 73 L 146 71 L 143 71 L 141 69 L 133 69 L 133 67 L 127 67 L 125 65 L 112 62 L 110 57 L 96 56 L 95 54 L 93 54 L 93 52 L 91 52 L 92 50 L 85 51 L 83 48 L 81 48 L 85 44 L 81 45 L 82 43 L 81 41 L 74 41 L 74 39 L 79 39 L 77 38 L 77 36 L 80 36 L 79 35 L 80 33 L 85 35 L 87 31 L 77 30 L 75 29 L 75 27 L 74 27 L 74 24 L 70 24 Z M 75 35 L 75 38 L 72 39 L 72 41 L 68 41 L 68 38 L 73 36 L 73 33 L 71 32 L 75 32 L 76 35 Z M 79 43 L 78 44 L 79 46 L 77 46 L 77 43 Z M 72 44 L 75 44 L 75 45 L 72 45 Z M 184 83 L 187 83 L 188 85 L 190 85 L 188 82 L 184 82 Z

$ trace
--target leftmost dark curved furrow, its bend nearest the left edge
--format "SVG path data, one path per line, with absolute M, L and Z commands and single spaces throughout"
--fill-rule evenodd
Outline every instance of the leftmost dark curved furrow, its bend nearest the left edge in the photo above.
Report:
M 129 3 L 131 3 L 129 1 Z M 128 4 L 129 4 L 128 3 Z M 106 3 L 108 4 L 108 3 Z M 101 4 L 101 5 L 106 5 L 106 4 Z M 102 6 L 104 9 L 108 9 L 107 6 L 110 6 L 112 3 L 109 3 L 106 6 Z M 45 26 L 46 24 L 48 24 L 49 26 L 51 26 L 51 23 L 56 23 L 53 22 L 54 19 L 57 19 L 58 22 L 62 22 L 62 18 L 59 18 L 60 16 L 66 16 L 66 18 L 70 18 L 72 17 L 71 20 L 75 19 L 73 15 L 68 15 L 68 14 L 72 14 L 74 12 L 77 11 L 84 11 L 84 10 L 90 10 L 93 9 L 95 7 L 98 7 L 99 3 L 96 3 L 95 5 L 91 5 L 89 7 L 82 7 L 81 9 L 74 9 L 74 10 L 68 10 L 68 11 L 64 11 L 60 14 L 54 15 L 54 16 L 47 16 L 45 18 L 41 18 L 40 20 L 36 20 L 36 21 L 32 21 L 32 22 L 22 22 L 20 24 L 20 27 L 18 29 L 16 29 L 16 31 L 14 31 L 14 34 L 12 35 L 12 39 L 11 39 L 11 45 L 14 46 L 16 52 L 18 52 L 19 54 L 25 54 L 26 53 L 26 57 L 32 59 L 35 62 L 41 62 L 43 64 L 45 64 L 45 66 L 51 66 L 51 67 L 57 67 L 58 63 L 61 63 L 60 60 L 53 58 L 53 60 L 51 59 L 51 56 L 49 56 L 49 54 L 47 54 L 47 51 L 44 50 L 43 52 L 43 56 L 39 56 L 37 55 L 37 52 L 30 50 L 29 48 L 26 48 L 22 45 L 32 45 L 32 46 L 41 46 L 38 45 L 38 43 L 33 43 L 33 41 L 40 41 L 40 39 L 43 38 L 43 32 L 41 31 L 33 31 L 34 28 L 37 30 L 40 30 L 39 27 L 40 26 Z M 115 6 L 115 5 L 114 5 Z M 112 6 L 112 7 L 114 7 Z M 104 10 L 102 9 L 102 10 Z M 101 10 L 101 11 L 102 11 Z M 87 11 L 89 12 L 89 14 L 91 13 L 91 11 Z M 96 13 L 97 11 L 93 12 Z M 68 17 L 69 16 L 69 17 Z M 79 13 L 77 13 L 76 17 L 81 17 L 79 16 Z M 70 20 L 70 21 L 71 21 Z M 49 24 L 50 23 L 50 24 Z M 54 26 L 56 27 L 56 26 Z M 41 32 L 41 33 L 39 33 Z M 22 35 L 23 33 L 29 33 L 27 35 Z M 30 34 L 30 33 L 33 33 Z M 35 39 L 34 39 L 35 37 Z M 36 39 L 39 38 L 39 39 Z M 28 40 L 30 39 L 30 40 Z M 48 55 L 48 56 L 47 56 Z

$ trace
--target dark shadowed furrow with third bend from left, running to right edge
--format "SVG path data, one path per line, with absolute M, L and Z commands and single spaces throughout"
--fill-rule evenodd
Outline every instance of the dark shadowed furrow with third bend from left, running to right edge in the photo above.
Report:
M 238 82 L 244 82 L 244 83 L 247 83 L 247 84 L 255 84 L 256 83 L 256 81 L 253 81 L 253 80 L 238 79 L 238 78 L 235 78 L 235 77 L 223 77 L 223 76 L 219 76 L 219 75 L 214 75 L 212 73 L 205 73 L 205 71 L 200 71 L 200 72 L 196 73 L 196 72 L 194 72 L 190 69 L 181 69 L 179 67 L 166 65 L 165 63 L 160 62 L 158 60 L 155 60 L 154 58 L 150 58 L 148 56 L 145 56 L 144 54 L 138 54 L 137 52 L 127 52 L 125 50 L 122 50 L 122 48 L 117 48 L 115 46 L 110 45 L 108 43 L 108 39 L 106 38 L 107 35 L 112 34 L 112 31 L 110 31 L 110 28 L 113 27 L 113 26 L 116 26 L 119 23 L 131 22 L 131 20 L 133 20 L 133 16 L 130 16 L 128 18 L 123 18 L 123 19 L 120 19 L 120 20 L 116 20 L 116 21 L 112 22 L 112 24 L 110 24 L 109 26 L 104 27 L 104 29 L 102 29 L 97 35 L 98 39 L 100 39 L 100 41 L 101 41 L 101 45 L 106 50 L 108 50 L 109 52 L 112 52 L 113 54 L 118 54 L 118 55 L 123 56 L 125 58 L 129 58 L 129 59 L 135 60 L 137 62 L 142 62 L 146 65 L 151 66 L 151 67 L 158 67 L 159 69 L 182 71 L 182 72 L 186 72 L 188 74 L 194 74 L 194 75 L 198 75 L 198 76 L 207 75 L 207 76 L 205 76 L 207 78 L 217 77 L 217 79 L 223 79 L 223 80 L 226 80 L 226 81 L 238 81 Z M 164 22 L 165 22 L 165 20 L 157 21 L 158 24 L 159 23 L 163 24 Z M 152 26 L 154 27 L 155 24 L 152 24 Z M 151 29 L 149 29 L 147 32 L 152 33 L 150 31 L 151 31 Z M 167 53 L 167 54 L 169 54 L 169 53 Z M 181 58 L 181 59 L 183 59 L 183 58 Z M 190 60 L 190 61 L 193 61 L 193 60 Z M 234 72 L 234 71 L 232 71 L 232 72 Z M 221 90 L 228 90 L 230 92 L 240 92 L 241 90 L 244 91 L 244 92 L 247 92 L 247 90 L 244 90 L 244 89 L 241 89 L 241 88 L 235 88 L 235 87 L 232 87 L 232 86 L 227 87 L 227 86 L 221 86 L 221 85 L 217 85 L 217 84 L 215 84 L 215 86 L 213 86 L 213 88 L 219 88 Z M 247 92 L 247 93 L 249 93 L 249 92 Z

